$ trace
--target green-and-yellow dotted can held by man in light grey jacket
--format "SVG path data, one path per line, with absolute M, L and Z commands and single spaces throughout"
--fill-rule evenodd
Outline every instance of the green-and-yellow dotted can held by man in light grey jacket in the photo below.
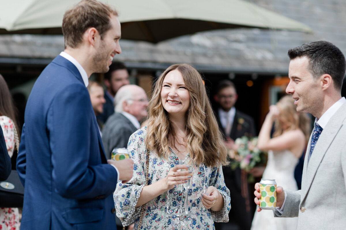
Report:
M 260 181 L 261 209 L 275 209 L 276 207 L 276 182 L 273 179 L 261 179 Z

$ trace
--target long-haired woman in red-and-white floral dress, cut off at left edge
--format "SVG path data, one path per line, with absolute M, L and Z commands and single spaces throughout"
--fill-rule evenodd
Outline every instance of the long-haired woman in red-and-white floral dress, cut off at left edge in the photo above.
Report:
M 5 79 L 0 74 L 0 126 L 10 157 L 19 147 L 15 107 Z M 19 230 L 18 208 L 0 208 L 0 229 Z

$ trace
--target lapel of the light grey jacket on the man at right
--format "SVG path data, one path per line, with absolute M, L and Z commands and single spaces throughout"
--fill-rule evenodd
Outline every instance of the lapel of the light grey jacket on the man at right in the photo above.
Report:
M 343 126 L 342 122 L 344 120 L 344 113 L 346 112 L 345 110 L 346 110 L 346 103 L 344 103 L 343 106 L 339 108 L 339 110 L 330 118 L 325 129 L 323 129 L 323 131 L 321 132 L 321 135 L 309 159 L 310 143 L 311 143 L 311 136 L 310 136 L 308 148 L 306 151 L 306 156 L 304 159 L 301 202 L 306 197 L 309 191 L 309 188 L 312 184 L 312 181 L 316 175 L 317 169 L 322 159 L 324 158 L 330 144 L 334 140 L 340 128 Z

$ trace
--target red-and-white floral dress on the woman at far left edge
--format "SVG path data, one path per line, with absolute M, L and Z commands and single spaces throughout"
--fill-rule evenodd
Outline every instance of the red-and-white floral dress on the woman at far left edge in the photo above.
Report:
M 0 126 L 5 138 L 6 147 L 10 157 L 15 149 L 15 125 L 13 121 L 0 116 Z M 19 230 L 19 211 L 18 208 L 0 208 L 0 229 L 1 230 Z

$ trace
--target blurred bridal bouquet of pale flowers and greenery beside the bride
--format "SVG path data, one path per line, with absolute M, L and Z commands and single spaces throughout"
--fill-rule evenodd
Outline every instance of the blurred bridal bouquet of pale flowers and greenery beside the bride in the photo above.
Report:
M 231 169 L 244 169 L 249 172 L 255 166 L 264 166 L 266 163 L 266 152 L 258 149 L 257 137 L 243 136 L 237 138 L 234 143 L 234 148 L 229 150 Z

